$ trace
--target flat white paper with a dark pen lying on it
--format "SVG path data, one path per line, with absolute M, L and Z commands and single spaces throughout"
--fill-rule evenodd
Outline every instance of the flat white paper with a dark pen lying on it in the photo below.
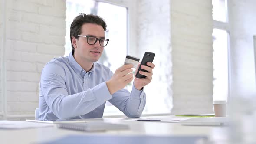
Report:
M 190 118 L 136 118 L 129 119 L 124 121 L 148 121 L 148 122 L 170 122 L 170 123 L 179 123 L 181 121 L 188 120 Z

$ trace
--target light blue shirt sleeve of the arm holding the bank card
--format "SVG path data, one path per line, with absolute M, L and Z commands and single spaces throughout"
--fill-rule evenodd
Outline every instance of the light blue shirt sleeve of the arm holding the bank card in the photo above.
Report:
M 40 89 L 47 105 L 60 119 L 87 114 L 112 98 L 106 82 L 86 91 L 68 95 L 65 81 L 65 70 L 61 65 L 48 63 L 43 68 Z

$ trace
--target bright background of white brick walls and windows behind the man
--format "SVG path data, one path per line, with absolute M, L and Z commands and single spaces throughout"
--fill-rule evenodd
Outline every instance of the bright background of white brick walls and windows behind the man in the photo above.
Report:
M 79 13 L 105 19 L 101 59 L 112 72 L 125 56 L 156 54 L 143 115 L 213 113 L 213 100 L 256 94 L 255 0 L 0 0 L 0 119 L 34 118 L 39 80 L 71 52 Z M 131 91 L 131 84 L 125 87 Z M 123 115 L 107 103 L 104 116 Z

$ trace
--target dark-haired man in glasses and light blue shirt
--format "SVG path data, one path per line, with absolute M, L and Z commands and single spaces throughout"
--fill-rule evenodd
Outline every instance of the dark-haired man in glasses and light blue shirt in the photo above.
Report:
M 102 118 L 109 101 L 128 117 L 140 117 L 145 106 L 143 87 L 152 79 L 154 64 L 141 68 L 146 78 L 135 78 L 131 93 L 123 89 L 133 80 L 132 65 L 123 65 L 113 74 L 97 63 L 105 39 L 105 21 L 95 15 L 79 14 L 70 26 L 72 52 L 52 59 L 42 70 L 39 93 L 39 120 Z M 138 69 L 138 67 L 137 67 Z

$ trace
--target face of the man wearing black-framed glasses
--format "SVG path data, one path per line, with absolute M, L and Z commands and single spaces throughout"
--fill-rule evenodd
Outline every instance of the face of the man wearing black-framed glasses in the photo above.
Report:
M 105 31 L 102 26 L 92 23 L 85 23 L 82 25 L 81 34 L 84 36 L 94 36 L 96 38 L 105 38 Z M 74 38 L 72 38 L 74 39 Z M 73 40 L 72 40 L 73 43 Z M 93 45 L 87 43 L 86 37 L 79 37 L 75 39 L 75 56 L 79 57 L 85 62 L 96 62 L 100 58 L 103 52 L 103 47 L 99 44 L 99 41 Z

